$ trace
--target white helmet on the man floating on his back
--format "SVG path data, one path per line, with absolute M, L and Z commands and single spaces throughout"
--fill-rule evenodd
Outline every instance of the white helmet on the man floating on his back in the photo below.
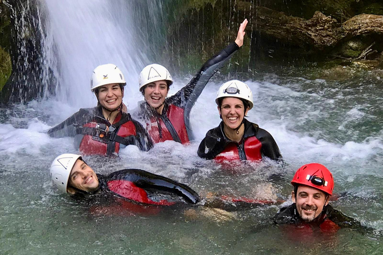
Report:
M 58 190 L 66 193 L 66 187 L 69 180 L 70 172 L 77 159 L 81 159 L 81 155 L 65 153 L 56 157 L 50 165 L 50 177 Z

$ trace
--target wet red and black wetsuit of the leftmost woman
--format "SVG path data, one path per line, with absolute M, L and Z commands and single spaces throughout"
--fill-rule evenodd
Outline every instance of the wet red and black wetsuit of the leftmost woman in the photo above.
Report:
M 117 114 L 109 132 L 102 138 L 97 135 L 96 125 L 110 126 L 102 115 L 102 108 L 80 109 L 47 133 L 52 137 L 74 137 L 75 146 L 84 155 L 112 155 L 118 153 L 122 146 L 137 145 L 141 150 L 148 151 L 153 143 L 140 123 L 133 120 L 130 114 Z

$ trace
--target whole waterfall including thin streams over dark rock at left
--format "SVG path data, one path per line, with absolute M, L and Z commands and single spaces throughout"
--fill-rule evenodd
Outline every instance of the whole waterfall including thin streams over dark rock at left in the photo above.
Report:
M 138 74 L 165 43 L 161 0 L 5 3 L 16 41 L 12 101 L 55 97 L 76 107 L 94 106 L 90 77 L 107 63 L 124 73 L 126 94 L 139 95 Z

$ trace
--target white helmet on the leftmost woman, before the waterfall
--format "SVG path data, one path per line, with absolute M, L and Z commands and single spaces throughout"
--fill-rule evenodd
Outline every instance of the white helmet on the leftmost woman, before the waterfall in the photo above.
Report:
M 121 70 L 113 64 L 100 65 L 93 70 L 90 78 L 90 90 L 112 83 L 121 83 L 124 86 L 126 81 Z

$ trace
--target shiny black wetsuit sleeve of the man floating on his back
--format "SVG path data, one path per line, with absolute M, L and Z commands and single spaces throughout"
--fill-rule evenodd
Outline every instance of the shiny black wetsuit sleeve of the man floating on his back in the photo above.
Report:
M 171 192 L 184 198 L 190 204 L 199 202 L 199 196 L 192 188 L 164 176 L 139 169 L 125 169 L 115 173 L 117 175 L 126 173 L 125 180 L 132 181 L 137 187 L 144 190 Z

